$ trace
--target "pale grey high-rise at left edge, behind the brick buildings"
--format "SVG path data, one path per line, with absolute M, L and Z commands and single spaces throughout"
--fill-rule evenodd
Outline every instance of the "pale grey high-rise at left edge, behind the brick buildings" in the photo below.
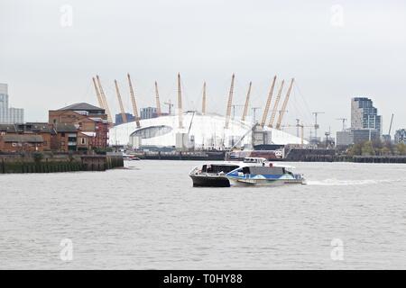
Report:
M 0 124 L 23 123 L 24 111 L 9 107 L 8 85 L 0 83 Z

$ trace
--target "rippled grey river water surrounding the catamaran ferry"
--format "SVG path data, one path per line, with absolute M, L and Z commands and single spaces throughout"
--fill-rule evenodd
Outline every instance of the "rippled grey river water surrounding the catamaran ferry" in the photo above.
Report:
M 294 163 L 307 185 L 193 188 L 200 163 L 0 175 L 0 268 L 406 268 L 406 166 Z

